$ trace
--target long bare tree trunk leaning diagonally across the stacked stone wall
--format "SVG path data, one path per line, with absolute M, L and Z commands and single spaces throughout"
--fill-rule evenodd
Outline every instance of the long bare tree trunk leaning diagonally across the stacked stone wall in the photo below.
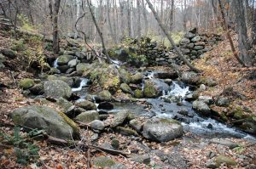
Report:
M 166 31 L 166 28 L 164 27 L 164 25 L 161 23 L 159 16 L 156 14 L 154 7 L 152 5 L 152 3 L 150 3 L 149 0 L 146 0 L 148 3 L 148 7 L 151 9 L 152 13 L 154 14 L 154 18 L 155 20 L 157 20 L 158 24 L 160 25 L 160 28 L 162 29 L 162 31 L 164 31 L 164 33 L 166 34 L 166 37 L 168 38 L 168 40 L 171 42 L 172 47 L 175 49 L 175 51 L 177 52 L 177 55 L 180 59 L 183 59 L 183 62 L 189 66 L 189 68 L 191 70 L 194 70 L 195 72 L 200 72 L 201 70 L 198 70 L 197 68 L 195 68 L 194 65 L 191 65 L 189 63 L 189 61 L 185 58 L 185 56 L 182 54 L 182 52 L 180 51 L 179 48 L 177 48 L 175 42 L 173 41 L 172 37 L 168 34 L 168 32 Z

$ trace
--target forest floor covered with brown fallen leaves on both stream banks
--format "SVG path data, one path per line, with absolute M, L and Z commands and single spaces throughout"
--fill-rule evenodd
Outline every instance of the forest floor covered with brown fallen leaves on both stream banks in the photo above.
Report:
M 0 34 L 0 49 L 10 45 L 9 37 Z M 24 77 L 32 77 L 20 65 L 20 58 L 7 60 L 6 68 L 0 71 L 0 131 L 12 135 L 14 124 L 9 118 L 9 113 L 15 108 L 40 103 L 34 99 L 27 99 L 17 84 Z M 240 68 L 236 59 L 230 53 L 228 42 L 220 42 L 216 48 L 206 54 L 203 59 L 195 60 L 195 65 L 203 70 L 202 76 L 212 76 L 218 81 L 218 86 L 208 88 L 204 93 L 213 97 L 222 93 L 225 87 L 233 87 L 235 91 L 247 97 L 246 100 L 236 99 L 233 107 L 237 105 L 247 107 L 250 113 L 256 115 L 256 75 L 255 71 Z M 184 68 L 186 69 L 186 68 Z M 254 74 L 253 74 L 254 73 Z M 49 107 L 55 104 L 47 103 Z M 22 135 L 26 136 L 23 132 Z M 90 130 L 82 130 L 82 144 L 93 135 Z M 0 140 L 1 140 L 0 136 Z M 84 140 L 83 140 L 84 138 Z M 177 138 L 165 144 L 148 142 L 143 138 L 135 139 L 122 136 L 111 131 L 104 132 L 97 140 L 97 144 L 110 143 L 110 138 L 118 138 L 122 149 L 137 154 L 150 155 L 151 161 L 147 166 L 131 161 L 124 155 L 109 155 L 98 149 L 82 149 L 79 145 L 72 148 L 49 144 L 47 140 L 29 140 L 40 148 L 39 158 L 30 161 L 26 166 L 16 162 L 15 148 L 0 142 L 0 168 L 95 168 L 92 161 L 98 156 L 109 156 L 113 161 L 122 163 L 126 168 L 206 168 L 206 163 L 211 155 L 227 155 L 236 161 L 236 166 L 221 168 L 256 168 L 256 145 L 244 139 L 229 138 L 228 140 L 240 144 L 238 149 L 230 149 L 220 144 L 212 144 L 207 138 L 199 138 L 194 134 L 186 133 L 183 138 Z M 89 152 L 89 153 L 88 153 Z M 161 167 L 160 167 L 161 166 Z

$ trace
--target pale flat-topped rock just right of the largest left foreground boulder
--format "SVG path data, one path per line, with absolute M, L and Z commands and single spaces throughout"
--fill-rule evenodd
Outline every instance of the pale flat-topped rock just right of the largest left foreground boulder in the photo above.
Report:
M 96 110 L 85 111 L 75 117 L 76 121 L 90 123 L 94 120 L 99 120 L 99 113 Z

